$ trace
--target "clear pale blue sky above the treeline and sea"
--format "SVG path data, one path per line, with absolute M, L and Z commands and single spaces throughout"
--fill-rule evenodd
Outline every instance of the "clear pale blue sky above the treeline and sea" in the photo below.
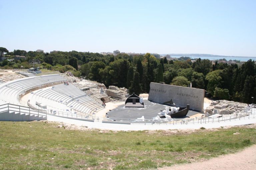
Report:
M 9 51 L 256 56 L 256 0 L 0 0 Z

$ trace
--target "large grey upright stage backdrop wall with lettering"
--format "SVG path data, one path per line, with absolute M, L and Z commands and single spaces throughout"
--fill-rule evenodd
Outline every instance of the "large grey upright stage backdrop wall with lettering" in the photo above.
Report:
M 179 107 L 186 107 L 189 104 L 190 109 L 204 109 L 204 89 L 150 83 L 148 100 L 163 103 L 171 99 Z

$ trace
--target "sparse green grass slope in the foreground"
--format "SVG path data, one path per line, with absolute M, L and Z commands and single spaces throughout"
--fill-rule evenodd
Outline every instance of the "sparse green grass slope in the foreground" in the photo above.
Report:
M 156 169 L 232 153 L 254 143 L 256 129 L 248 127 L 171 134 L 0 122 L 0 169 Z

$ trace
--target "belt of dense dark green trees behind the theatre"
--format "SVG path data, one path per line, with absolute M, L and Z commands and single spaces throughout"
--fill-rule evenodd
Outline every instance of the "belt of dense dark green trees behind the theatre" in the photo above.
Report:
M 22 49 L 9 52 L 4 47 L 0 47 L 0 51 L 1 58 L 3 55 L 7 59 L 14 59 L 15 55 L 26 57 L 21 60 L 0 61 L 1 68 L 5 69 L 21 66 L 29 68 L 29 60 L 39 59 L 43 68 L 60 72 L 70 71 L 74 75 L 81 74 L 88 79 L 104 83 L 107 87 L 116 85 L 148 93 L 150 82 L 165 82 L 185 87 L 191 82 L 193 88 L 205 89 L 220 99 L 250 103 L 251 97 L 256 97 L 256 65 L 253 60 L 237 64 L 214 61 L 212 64 L 208 59 L 199 58 L 192 61 L 189 57 L 168 61 L 167 58 L 156 58 L 150 53 L 103 55 L 74 50 L 42 53 Z M 137 79 L 134 79 L 135 77 Z

